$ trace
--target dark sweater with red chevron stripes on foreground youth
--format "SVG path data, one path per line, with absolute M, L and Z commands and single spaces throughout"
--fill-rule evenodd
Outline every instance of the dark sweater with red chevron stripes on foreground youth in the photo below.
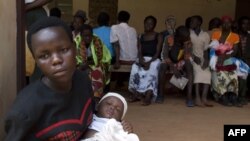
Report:
M 78 140 L 92 121 L 92 96 L 87 72 L 74 73 L 68 93 L 57 93 L 41 80 L 30 84 L 7 114 L 6 141 Z

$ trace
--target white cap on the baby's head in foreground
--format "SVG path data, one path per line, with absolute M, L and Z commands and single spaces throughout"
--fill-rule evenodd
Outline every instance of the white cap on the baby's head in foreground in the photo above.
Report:
M 115 93 L 115 92 L 109 92 L 102 97 L 102 99 L 99 101 L 99 103 L 101 103 L 105 98 L 108 98 L 110 96 L 114 96 L 122 101 L 123 107 L 124 107 L 123 114 L 122 114 L 122 119 L 123 119 L 127 113 L 127 110 L 128 110 L 128 103 L 122 95 Z

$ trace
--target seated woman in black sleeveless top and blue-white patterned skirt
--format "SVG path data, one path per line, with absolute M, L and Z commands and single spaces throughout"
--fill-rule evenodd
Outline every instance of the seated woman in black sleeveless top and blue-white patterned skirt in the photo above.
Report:
M 139 59 L 132 65 L 129 79 L 130 102 L 142 99 L 142 105 L 149 105 L 158 90 L 158 69 L 162 45 L 161 34 L 154 31 L 157 20 L 153 16 L 144 19 L 144 30 L 138 40 Z

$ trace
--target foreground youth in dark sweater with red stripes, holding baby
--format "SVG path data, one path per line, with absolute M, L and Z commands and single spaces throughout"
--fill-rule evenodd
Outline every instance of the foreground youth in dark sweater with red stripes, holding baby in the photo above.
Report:
M 78 140 L 92 121 L 93 92 L 88 74 L 76 70 L 70 28 L 58 18 L 41 18 L 27 42 L 44 76 L 18 94 L 5 140 Z

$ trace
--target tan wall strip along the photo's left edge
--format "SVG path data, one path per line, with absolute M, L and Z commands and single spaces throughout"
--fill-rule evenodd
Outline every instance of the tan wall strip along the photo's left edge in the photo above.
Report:
M 0 0 L 0 140 L 3 121 L 16 96 L 16 1 Z

